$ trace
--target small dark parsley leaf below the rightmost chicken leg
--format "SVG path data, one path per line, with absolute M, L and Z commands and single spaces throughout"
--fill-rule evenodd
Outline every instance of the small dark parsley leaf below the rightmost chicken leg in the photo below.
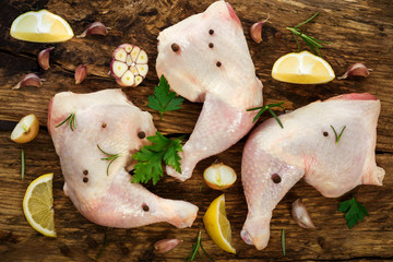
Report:
M 338 211 L 346 213 L 345 219 L 347 221 L 349 229 L 352 229 L 359 219 L 362 221 L 365 215 L 369 216 L 366 207 L 357 202 L 355 198 L 341 202 L 338 205 Z

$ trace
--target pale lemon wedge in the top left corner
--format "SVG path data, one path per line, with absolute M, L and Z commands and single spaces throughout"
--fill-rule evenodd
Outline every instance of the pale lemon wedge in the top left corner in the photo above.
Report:
M 69 23 L 45 9 L 17 16 L 11 25 L 10 34 L 13 38 L 35 43 L 59 43 L 73 37 Z

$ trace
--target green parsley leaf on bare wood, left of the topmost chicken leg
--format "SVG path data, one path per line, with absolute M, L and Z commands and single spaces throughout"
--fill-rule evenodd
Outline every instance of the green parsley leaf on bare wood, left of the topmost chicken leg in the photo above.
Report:
M 169 92 L 168 81 L 163 74 L 159 79 L 158 86 L 154 87 L 154 94 L 148 96 L 147 106 L 159 111 L 159 120 L 162 120 L 165 111 L 180 109 L 183 100 L 184 98 L 177 96 L 175 92 Z

